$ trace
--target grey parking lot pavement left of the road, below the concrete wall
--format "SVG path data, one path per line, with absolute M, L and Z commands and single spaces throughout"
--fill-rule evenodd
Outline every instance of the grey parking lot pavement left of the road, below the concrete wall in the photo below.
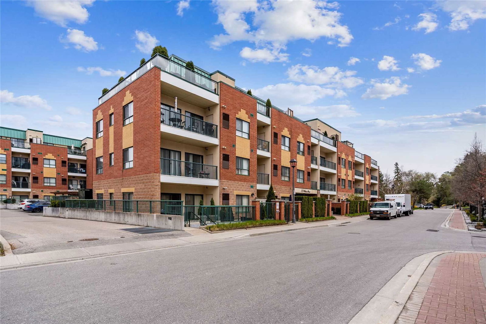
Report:
M 139 235 L 121 230 L 136 227 L 141 226 L 43 217 L 20 210 L 0 212 L 0 234 L 13 245 L 14 254 L 191 236 L 181 231 Z M 85 238 L 98 239 L 79 241 Z

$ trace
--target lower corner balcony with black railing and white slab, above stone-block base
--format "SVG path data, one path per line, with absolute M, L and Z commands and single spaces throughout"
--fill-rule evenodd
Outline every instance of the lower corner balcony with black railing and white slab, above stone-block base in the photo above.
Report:
M 160 182 L 218 186 L 218 167 L 162 158 L 160 159 Z

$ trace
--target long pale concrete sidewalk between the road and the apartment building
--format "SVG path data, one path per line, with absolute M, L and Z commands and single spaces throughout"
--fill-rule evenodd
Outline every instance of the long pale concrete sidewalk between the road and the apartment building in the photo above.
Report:
M 297 230 L 307 230 L 318 227 L 336 226 L 340 224 L 354 223 L 368 219 L 367 215 L 348 218 L 344 220 L 328 220 L 322 222 L 288 224 L 272 227 L 260 227 L 248 230 L 222 231 L 214 234 L 203 234 L 202 230 L 189 229 L 192 236 L 179 238 L 158 239 L 150 241 L 138 241 L 130 243 L 110 244 L 101 246 L 90 246 L 75 249 L 65 249 L 46 252 L 35 252 L 26 254 L 14 254 L 0 257 L 0 270 L 29 267 L 34 265 L 49 264 L 56 262 L 83 260 L 88 258 L 113 255 L 118 253 L 130 253 L 148 251 L 164 248 L 173 248 L 191 244 L 209 243 L 227 239 L 236 239 L 266 234 L 276 234 Z

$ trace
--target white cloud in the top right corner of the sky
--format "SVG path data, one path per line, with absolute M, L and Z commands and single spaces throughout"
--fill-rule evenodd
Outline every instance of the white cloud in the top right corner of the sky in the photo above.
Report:
M 467 30 L 477 19 L 486 19 L 485 1 L 437 1 L 442 10 L 450 13 L 451 23 L 447 26 L 451 31 Z

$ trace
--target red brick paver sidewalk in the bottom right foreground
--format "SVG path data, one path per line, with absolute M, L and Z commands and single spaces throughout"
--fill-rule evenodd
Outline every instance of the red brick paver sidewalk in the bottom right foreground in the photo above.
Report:
M 486 323 L 486 288 L 479 268 L 483 257 L 486 253 L 444 256 L 433 275 L 424 273 L 426 278 L 420 279 L 397 323 Z

